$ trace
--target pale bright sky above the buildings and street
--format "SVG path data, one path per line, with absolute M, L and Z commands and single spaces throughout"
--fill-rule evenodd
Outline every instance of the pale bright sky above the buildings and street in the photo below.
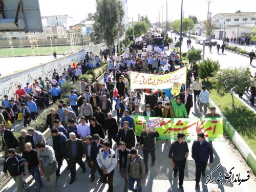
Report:
M 183 0 L 184 16 L 196 15 L 199 20 L 207 18 L 208 0 Z M 211 16 L 217 13 L 234 13 L 237 10 L 242 12 L 256 11 L 256 2 L 253 0 L 243 0 L 242 3 L 234 3 L 233 0 L 211 0 L 210 12 Z M 253 3 L 254 2 L 254 3 Z M 180 19 L 181 0 L 167 0 L 168 3 L 168 21 Z M 254 4 L 254 5 L 253 5 Z M 47 15 L 65 15 L 68 14 L 74 17 L 74 23 L 77 24 L 80 20 L 87 17 L 88 13 L 96 11 L 95 0 L 39 0 L 41 16 Z M 138 20 L 140 15 L 147 15 L 152 23 L 162 20 L 163 7 L 163 22 L 166 22 L 166 0 L 127 0 L 129 21 Z M 68 19 L 68 25 L 72 26 L 72 19 Z

